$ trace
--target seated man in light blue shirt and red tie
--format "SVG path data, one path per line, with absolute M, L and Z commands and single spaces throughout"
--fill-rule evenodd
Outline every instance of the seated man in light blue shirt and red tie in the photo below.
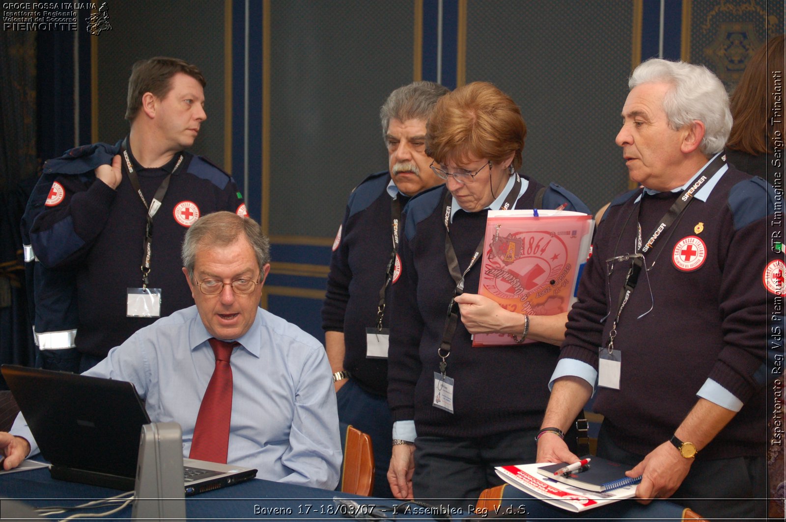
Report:
M 231 212 L 200 217 L 185 234 L 182 261 L 196 306 L 138 330 L 85 375 L 133 382 L 153 422 L 181 425 L 185 456 L 256 468 L 266 480 L 336 487 L 342 454 L 327 356 L 309 334 L 259 308 L 270 271 L 259 224 Z M 231 404 L 231 417 L 228 440 L 219 444 L 211 433 L 203 446 L 196 443 L 208 381 L 219 374 L 216 339 L 235 344 L 227 348 L 231 402 L 220 402 Z M 4 469 L 38 452 L 21 414 L 0 433 L 0 451 Z

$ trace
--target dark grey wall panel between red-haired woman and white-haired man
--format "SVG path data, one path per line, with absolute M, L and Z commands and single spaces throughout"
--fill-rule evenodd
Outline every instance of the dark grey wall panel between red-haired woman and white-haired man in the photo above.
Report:
M 522 173 L 597 210 L 627 188 L 614 143 L 630 74 L 633 2 L 468 0 L 467 82 L 494 82 L 527 122 Z

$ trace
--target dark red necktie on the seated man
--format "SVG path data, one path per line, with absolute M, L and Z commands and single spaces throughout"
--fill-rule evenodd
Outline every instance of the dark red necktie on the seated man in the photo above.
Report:
M 196 415 L 190 458 L 226 464 L 232 417 L 232 349 L 239 343 L 211 338 L 215 370 Z

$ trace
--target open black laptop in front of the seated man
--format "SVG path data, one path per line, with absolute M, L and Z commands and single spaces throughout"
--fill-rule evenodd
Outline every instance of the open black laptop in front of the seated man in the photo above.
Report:
M 134 385 L 61 371 L 2 365 L 52 477 L 134 490 L 141 427 L 149 424 Z M 256 469 L 183 459 L 185 495 L 226 487 Z

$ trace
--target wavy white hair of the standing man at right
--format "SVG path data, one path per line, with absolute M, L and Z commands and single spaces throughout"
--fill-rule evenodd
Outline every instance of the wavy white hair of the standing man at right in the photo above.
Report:
M 707 156 L 723 150 L 733 120 L 729 94 L 718 76 L 703 65 L 651 58 L 630 75 L 628 87 L 633 89 L 642 83 L 652 82 L 665 82 L 672 86 L 663 97 L 663 110 L 672 129 L 678 130 L 699 120 L 704 124 L 699 150 Z

